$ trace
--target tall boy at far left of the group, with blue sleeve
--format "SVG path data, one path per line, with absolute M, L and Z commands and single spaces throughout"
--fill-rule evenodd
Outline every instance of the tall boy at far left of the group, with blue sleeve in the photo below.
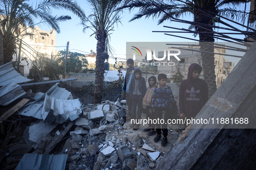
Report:
M 130 83 L 131 83 L 131 80 L 133 78 L 133 72 L 135 70 L 135 68 L 133 67 L 134 65 L 134 61 L 133 59 L 129 58 L 127 60 L 127 70 L 126 70 L 126 75 L 125 75 L 125 79 L 124 79 L 124 82 L 123 82 L 123 91 L 126 91 L 126 106 L 128 106 L 128 113 L 126 113 L 126 115 L 128 117 L 126 118 L 130 118 L 130 115 L 131 115 L 131 111 L 132 111 L 132 102 L 131 102 L 131 97 L 130 97 L 130 91 L 129 91 L 129 86 L 130 86 Z

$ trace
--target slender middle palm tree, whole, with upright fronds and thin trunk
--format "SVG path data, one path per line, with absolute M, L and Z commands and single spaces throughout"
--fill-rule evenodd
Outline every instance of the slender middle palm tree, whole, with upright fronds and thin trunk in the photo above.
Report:
M 120 9 L 116 10 L 121 0 L 88 0 L 91 5 L 92 14 L 82 22 L 83 31 L 90 28 L 97 39 L 97 56 L 95 68 L 94 103 L 101 103 L 104 90 L 104 66 L 108 59 L 110 31 L 113 31 L 114 24 L 120 22 Z M 92 36 L 91 35 L 91 36 Z M 108 48 L 107 48 L 108 47 Z

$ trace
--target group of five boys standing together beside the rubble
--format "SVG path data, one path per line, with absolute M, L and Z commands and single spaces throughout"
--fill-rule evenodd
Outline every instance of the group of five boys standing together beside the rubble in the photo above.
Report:
M 151 76 L 148 79 L 149 87 L 146 88 L 146 81 L 142 77 L 140 69 L 133 67 L 133 59 L 127 60 L 126 77 L 123 84 L 123 91 L 126 91 L 126 106 L 128 106 L 128 114 L 126 119 L 136 120 L 130 124 L 133 130 L 139 129 L 143 101 L 146 105 L 146 116 L 150 120 L 169 119 L 172 114 L 176 114 L 173 108 L 176 107 L 176 101 L 172 94 L 172 89 L 166 85 L 167 76 L 159 74 L 158 84 L 156 77 Z M 181 82 L 179 89 L 179 112 L 181 118 L 192 118 L 197 115 L 204 104 L 208 100 L 208 87 L 204 80 L 199 79 L 202 67 L 196 63 L 191 64 L 188 68 L 188 79 Z M 136 122 L 136 123 L 135 123 Z M 167 141 L 167 124 L 148 123 L 147 135 L 157 134 L 154 142 L 159 142 L 161 134 L 163 134 L 162 146 L 168 144 Z M 155 131 L 156 128 L 156 131 Z M 162 131 L 162 132 L 161 132 Z

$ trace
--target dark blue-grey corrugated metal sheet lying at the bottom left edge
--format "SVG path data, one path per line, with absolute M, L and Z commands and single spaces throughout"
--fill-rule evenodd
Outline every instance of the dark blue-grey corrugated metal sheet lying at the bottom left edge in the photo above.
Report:
M 24 154 L 15 170 L 65 170 L 67 154 Z

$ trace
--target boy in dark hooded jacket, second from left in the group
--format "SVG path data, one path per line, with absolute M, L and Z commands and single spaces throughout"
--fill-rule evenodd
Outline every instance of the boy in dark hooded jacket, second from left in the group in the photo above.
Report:
M 135 69 L 133 74 L 134 74 L 134 77 L 132 78 L 130 87 L 129 87 L 130 96 L 132 100 L 132 119 L 131 119 L 130 127 L 132 127 L 133 130 L 137 130 L 139 129 L 139 125 L 140 125 L 140 119 L 141 119 L 141 113 L 142 113 L 142 101 L 146 93 L 146 81 L 144 77 L 142 77 L 140 69 Z M 137 109 L 137 115 L 136 115 L 137 107 L 138 109 Z

